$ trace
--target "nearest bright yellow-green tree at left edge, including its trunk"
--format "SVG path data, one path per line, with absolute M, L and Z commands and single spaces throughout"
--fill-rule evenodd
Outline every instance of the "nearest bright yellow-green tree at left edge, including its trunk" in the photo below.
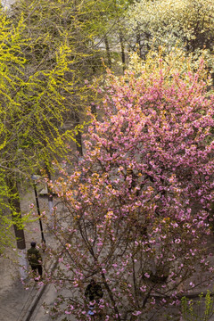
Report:
M 54 65 L 39 69 L 29 65 L 25 54 L 31 42 L 23 37 L 23 20 L 14 26 L 4 12 L 0 19 L 0 176 L 4 182 L 3 196 L 7 196 L 7 201 L 2 198 L 1 209 L 12 211 L 18 250 L 24 258 L 19 189 L 26 177 L 65 152 L 65 142 L 73 136 L 72 128 L 62 128 L 68 111 L 65 101 L 74 82 L 65 76 L 70 71 L 70 48 L 66 43 L 56 48 Z

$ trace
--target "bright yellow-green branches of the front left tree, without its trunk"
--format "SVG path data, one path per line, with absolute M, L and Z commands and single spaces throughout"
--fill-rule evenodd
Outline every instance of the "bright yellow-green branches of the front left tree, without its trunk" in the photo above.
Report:
M 22 53 L 31 41 L 21 38 L 26 30 L 23 21 L 15 28 L 2 14 L 1 26 L 1 163 L 29 171 L 30 166 L 37 166 L 39 151 L 44 147 L 53 151 L 53 139 L 61 134 L 67 111 L 65 96 L 74 87 L 72 79 L 65 78 L 70 70 L 70 48 L 67 44 L 59 46 L 53 57 L 55 63 L 49 68 L 31 68 Z

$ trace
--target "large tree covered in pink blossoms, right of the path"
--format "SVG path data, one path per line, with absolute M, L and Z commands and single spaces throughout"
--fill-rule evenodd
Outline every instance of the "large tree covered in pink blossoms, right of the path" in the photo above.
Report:
M 163 316 L 208 281 L 214 97 L 202 61 L 194 71 L 165 62 L 109 74 L 84 157 L 50 183 L 60 199 L 50 224 L 59 264 L 46 276 L 61 293 L 53 317 L 91 319 L 90 278 L 103 287 L 95 317 L 106 321 Z

